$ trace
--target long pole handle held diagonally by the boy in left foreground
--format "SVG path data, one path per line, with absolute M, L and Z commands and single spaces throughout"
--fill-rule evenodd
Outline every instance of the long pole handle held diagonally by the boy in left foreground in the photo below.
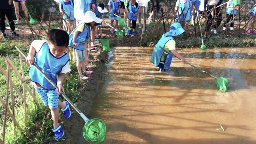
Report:
M 15 48 L 19 51 L 19 53 L 21 53 L 21 55 L 24 57 L 24 58 L 27 58 L 27 56 L 25 55 L 25 53 L 18 48 L 18 46 L 15 46 Z M 43 73 L 42 70 L 40 70 L 39 67 L 37 67 L 37 65 L 35 65 L 33 63 L 33 66 L 36 68 L 36 70 L 38 70 L 44 77 L 45 79 L 47 79 L 56 89 L 58 89 L 58 86 L 51 80 L 49 79 L 45 73 Z M 79 108 L 76 107 L 76 105 L 73 104 L 73 102 L 64 94 L 64 92 L 61 92 L 61 95 L 67 100 L 67 102 L 77 111 L 77 113 L 80 114 L 80 116 L 83 118 L 83 120 L 85 120 L 85 122 L 89 122 L 89 119 L 82 113 L 82 111 L 79 110 Z

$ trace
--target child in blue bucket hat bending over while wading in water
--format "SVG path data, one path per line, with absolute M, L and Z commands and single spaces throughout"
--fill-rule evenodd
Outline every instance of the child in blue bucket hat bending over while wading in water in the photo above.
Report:
M 175 50 L 175 38 L 179 37 L 185 32 L 186 31 L 182 28 L 180 23 L 175 22 L 171 24 L 170 31 L 163 34 L 161 39 L 155 45 L 150 62 L 152 62 L 156 67 L 159 67 L 159 71 L 164 72 L 165 70 L 168 70 L 170 68 L 172 60 L 172 55 L 165 52 L 162 48 L 164 48 L 166 51 L 170 51 L 171 53 L 173 53 L 173 55 L 179 58 L 182 62 L 186 62 L 186 59 Z

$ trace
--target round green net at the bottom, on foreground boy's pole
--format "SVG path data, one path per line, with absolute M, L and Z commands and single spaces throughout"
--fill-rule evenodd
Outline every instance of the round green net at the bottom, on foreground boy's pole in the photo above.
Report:
M 83 137 L 91 143 L 101 144 L 106 139 L 106 124 L 101 119 L 91 119 L 83 127 Z

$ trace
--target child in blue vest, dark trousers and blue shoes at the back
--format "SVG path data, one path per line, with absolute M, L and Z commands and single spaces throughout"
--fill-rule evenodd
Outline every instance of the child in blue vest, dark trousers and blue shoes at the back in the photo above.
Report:
M 135 36 L 136 22 L 138 17 L 138 10 L 140 9 L 140 5 L 136 2 L 136 0 L 131 0 L 127 4 L 127 13 L 128 13 L 128 27 L 131 26 L 132 21 L 132 35 Z M 131 34 L 131 30 L 127 32 L 128 35 Z

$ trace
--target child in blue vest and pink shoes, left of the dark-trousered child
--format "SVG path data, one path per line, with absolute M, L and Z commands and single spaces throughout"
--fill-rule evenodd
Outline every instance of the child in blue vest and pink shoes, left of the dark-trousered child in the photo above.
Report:
M 113 23 L 114 20 L 116 21 L 116 29 L 118 29 L 118 17 L 120 12 L 121 3 L 119 0 L 109 0 L 109 3 L 107 4 L 109 6 L 109 19 L 111 20 L 110 25 L 114 27 Z M 114 15 L 115 14 L 115 15 Z M 110 28 L 111 33 L 115 33 L 115 30 L 113 28 Z

